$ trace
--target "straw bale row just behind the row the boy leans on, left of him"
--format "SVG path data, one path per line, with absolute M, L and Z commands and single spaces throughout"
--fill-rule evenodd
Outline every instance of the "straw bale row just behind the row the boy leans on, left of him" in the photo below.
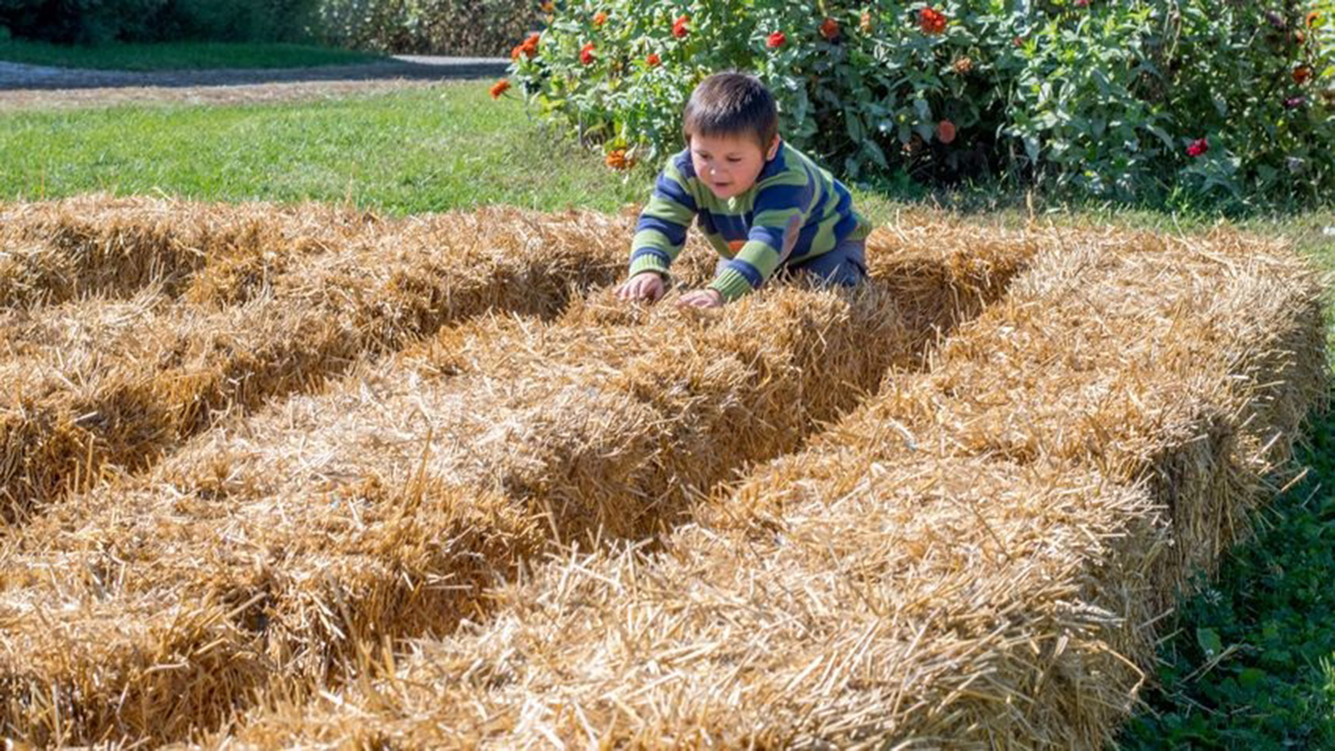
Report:
M 300 216 L 260 231 L 255 209 L 248 232 L 260 240 L 211 259 L 182 299 L 154 285 L 128 300 L 5 311 L 5 520 L 89 487 L 107 466 L 143 470 L 220 414 L 315 388 L 449 321 L 554 315 L 571 289 L 614 279 L 623 255 L 618 220 L 515 209 L 376 221 L 339 247 L 266 244 Z

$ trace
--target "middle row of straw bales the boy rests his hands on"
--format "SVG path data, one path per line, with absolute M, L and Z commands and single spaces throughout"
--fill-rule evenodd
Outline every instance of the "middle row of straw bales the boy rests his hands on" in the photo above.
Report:
M 880 235 L 860 293 L 777 288 L 693 315 L 602 292 L 553 321 L 447 328 L 67 499 L 0 560 L 5 731 L 183 738 L 258 688 L 482 618 L 487 588 L 553 542 L 670 530 L 917 367 L 1037 245 L 924 239 Z

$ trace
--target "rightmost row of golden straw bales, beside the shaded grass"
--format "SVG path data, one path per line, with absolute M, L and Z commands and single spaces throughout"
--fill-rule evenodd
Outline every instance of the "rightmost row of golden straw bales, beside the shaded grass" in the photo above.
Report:
M 1153 622 L 1323 392 L 1324 327 L 1266 241 L 1065 245 L 659 550 L 570 552 L 487 623 L 227 740 L 1104 744 Z

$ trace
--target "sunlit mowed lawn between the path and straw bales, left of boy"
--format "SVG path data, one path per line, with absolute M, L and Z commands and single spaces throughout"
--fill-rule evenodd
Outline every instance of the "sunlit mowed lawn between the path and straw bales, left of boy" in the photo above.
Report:
M 614 211 L 622 180 L 477 83 L 242 107 L 0 116 L 0 196 L 88 191 L 206 200 L 351 201 L 388 213 L 507 203 Z

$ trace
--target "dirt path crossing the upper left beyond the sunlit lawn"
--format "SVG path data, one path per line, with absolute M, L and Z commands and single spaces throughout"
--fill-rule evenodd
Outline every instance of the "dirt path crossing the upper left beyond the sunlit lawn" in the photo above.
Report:
M 85 71 L 0 61 L 0 111 L 144 101 L 239 104 L 346 96 L 505 75 L 505 59 L 398 56 L 316 68 Z

